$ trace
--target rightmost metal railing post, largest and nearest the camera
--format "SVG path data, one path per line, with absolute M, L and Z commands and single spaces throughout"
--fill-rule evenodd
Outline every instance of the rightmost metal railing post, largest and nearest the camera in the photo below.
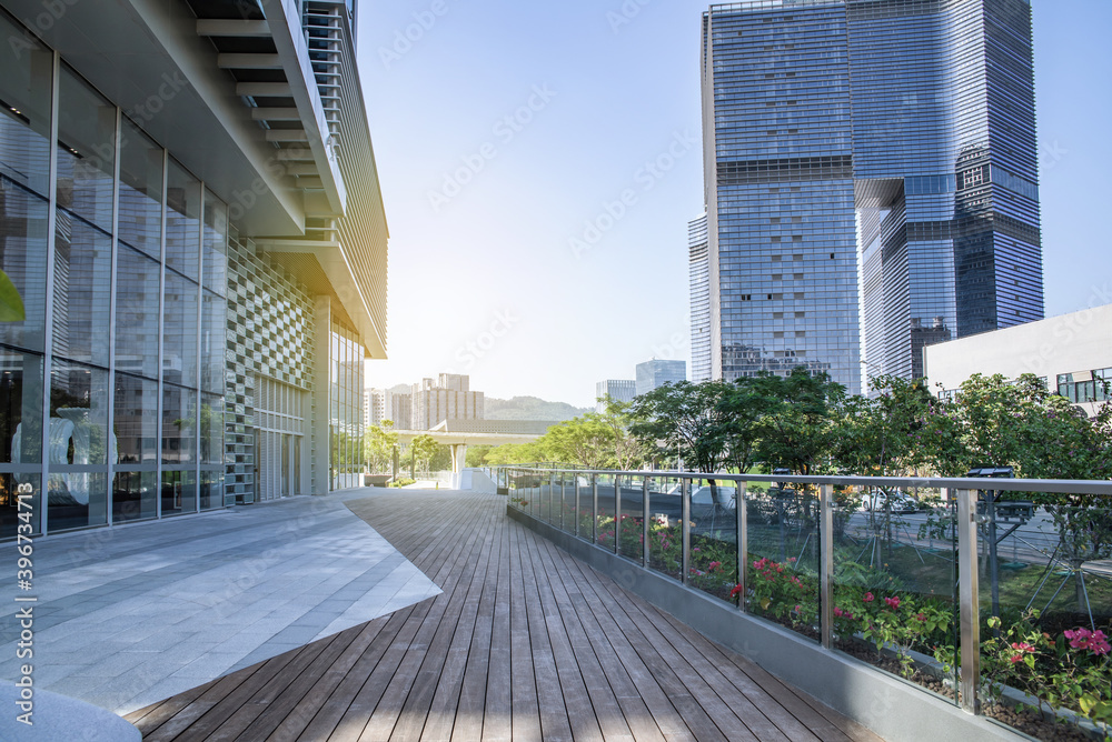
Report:
M 949 498 L 947 498 L 949 499 Z M 977 604 L 976 490 L 957 490 L 957 586 L 962 710 L 980 713 L 981 616 Z

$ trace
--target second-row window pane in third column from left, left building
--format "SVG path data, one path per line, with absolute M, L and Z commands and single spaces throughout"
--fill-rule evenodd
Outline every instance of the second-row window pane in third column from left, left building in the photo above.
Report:
M 121 244 L 116 257 L 116 368 L 158 378 L 158 263 Z M 151 410 L 155 408 L 152 407 Z

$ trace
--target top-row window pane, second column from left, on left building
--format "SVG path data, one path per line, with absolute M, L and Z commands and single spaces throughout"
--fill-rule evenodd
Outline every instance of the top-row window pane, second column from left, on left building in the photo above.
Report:
M 111 232 L 116 107 L 67 67 L 58 94 L 58 205 Z

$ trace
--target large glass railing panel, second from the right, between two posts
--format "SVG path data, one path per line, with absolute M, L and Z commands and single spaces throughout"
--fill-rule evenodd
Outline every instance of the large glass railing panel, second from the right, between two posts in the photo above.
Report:
M 953 503 L 939 490 L 834 492 L 834 645 L 956 703 Z

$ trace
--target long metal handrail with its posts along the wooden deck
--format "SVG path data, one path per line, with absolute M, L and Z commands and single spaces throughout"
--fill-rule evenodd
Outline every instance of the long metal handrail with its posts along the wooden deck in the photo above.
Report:
M 752 495 L 747 493 L 747 484 L 752 482 L 770 482 L 776 484 L 808 484 L 817 485 L 820 510 L 818 517 L 818 539 L 820 539 L 820 630 L 821 641 L 825 649 L 833 646 L 833 589 L 834 589 L 834 488 L 836 487 L 880 487 L 880 488 L 905 488 L 905 489 L 936 489 L 944 493 L 944 499 L 956 505 L 955 540 L 957 542 L 957 595 L 959 602 L 959 625 L 961 645 L 960 666 L 960 690 L 961 706 L 967 713 L 980 713 L 980 700 L 977 698 L 981 685 L 980 670 L 980 606 L 977 602 L 977 510 L 976 501 L 980 490 L 995 490 L 997 492 L 1046 492 L 1056 494 L 1096 494 L 1112 497 L 1112 481 L 1093 480 L 1046 480 L 1046 479 L 984 479 L 984 478 L 945 478 L 945 477 L 857 477 L 857 475 L 797 475 L 797 474 L 729 474 L 723 472 L 691 472 L 691 471 L 648 471 L 648 470 L 605 470 L 605 469 L 559 469 L 530 465 L 505 465 L 495 467 L 494 470 L 504 470 L 506 479 L 516 474 L 535 475 L 536 487 L 547 479 L 549 489 L 547 505 L 547 522 L 556 528 L 563 528 L 564 512 L 564 479 L 565 474 L 570 474 L 573 481 L 579 478 L 589 478 L 592 490 L 592 533 L 590 541 L 598 545 L 598 478 L 614 478 L 615 497 L 615 538 L 614 552 L 620 554 L 618 519 L 622 513 L 620 487 L 623 479 L 642 480 L 641 487 L 647 493 L 649 479 L 678 479 L 681 482 L 679 495 L 682 497 L 682 570 L 681 582 L 687 584 L 688 568 L 691 561 L 691 534 L 689 513 L 692 490 L 689 483 L 696 480 L 715 480 L 718 482 L 737 483 L 737 568 L 738 584 L 742 594 L 747 588 L 746 554 L 746 511 L 745 502 Z M 553 499 L 555 497 L 555 481 L 559 477 L 560 481 L 560 521 L 557 527 L 553 523 Z M 576 512 L 578 513 L 578 483 L 576 488 Z M 530 488 L 532 489 L 532 488 Z M 539 495 L 539 492 L 538 492 Z M 676 495 L 673 495 L 676 497 Z M 539 497 L 538 497 L 539 499 Z M 643 501 L 642 514 L 648 513 L 648 500 Z M 539 504 L 539 503 L 537 503 Z M 1112 502 L 1110 502 L 1112 505 Z M 530 515 L 534 515 L 534 507 L 529 507 Z M 539 508 L 537 508 L 539 511 Z M 538 520 L 539 512 L 534 515 Z M 578 517 L 576 518 L 578 521 Z M 644 569 L 648 568 L 648 539 L 647 518 L 643 523 L 646 533 L 643 553 L 636 561 L 642 563 Z M 578 524 L 576 524 L 578 534 Z M 745 600 L 738 601 L 738 609 L 745 612 Z

